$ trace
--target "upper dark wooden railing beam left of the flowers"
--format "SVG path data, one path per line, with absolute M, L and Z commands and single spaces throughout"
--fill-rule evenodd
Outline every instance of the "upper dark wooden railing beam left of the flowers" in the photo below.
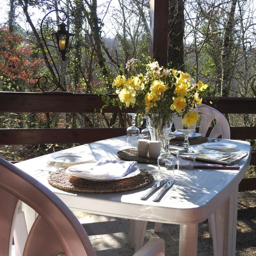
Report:
M 116 97 L 109 94 L 110 98 Z M 103 106 L 101 95 L 77 93 L 0 92 L 1 112 L 27 113 L 99 113 Z M 110 106 L 103 113 L 134 113 L 134 108 Z

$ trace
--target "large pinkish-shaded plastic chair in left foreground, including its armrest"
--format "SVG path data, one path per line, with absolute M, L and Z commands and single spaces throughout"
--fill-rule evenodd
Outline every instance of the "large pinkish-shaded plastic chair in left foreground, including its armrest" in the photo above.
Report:
M 29 234 L 24 227 L 20 201 L 32 207 L 38 217 Z M 96 255 L 85 230 L 75 215 L 48 188 L 0 158 L 0 255 L 86 256 Z M 18 223 L 17 223 L 18 218 Z M 15 223 L 16 221 L 16 223 Z M 15 230 L 14 230 L 15 229 Z M 135 256 L 164 256 L 164 241 L 151 239 Z

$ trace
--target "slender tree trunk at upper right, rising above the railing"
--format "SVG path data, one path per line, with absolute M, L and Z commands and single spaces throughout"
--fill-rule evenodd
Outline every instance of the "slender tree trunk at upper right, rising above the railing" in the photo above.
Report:
M 230 89 L 230 78 L 231 78 L 231 45 L 230 38 L 233 34 L 234 29 L 234 17 L 236 10 L 237 0 L 232 0 L 230 11 L 228 14 L 228 20 L 225 27 L 222 53 L 221 53 L 221 65 L 222 65 L 222 79 L 221 79 L 221 96 L 228 97 Z

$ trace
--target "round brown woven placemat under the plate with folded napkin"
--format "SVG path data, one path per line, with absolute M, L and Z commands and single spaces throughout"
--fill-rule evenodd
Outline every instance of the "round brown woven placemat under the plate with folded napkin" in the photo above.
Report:
M 76 178 L 67 174 L 66 169 L 51 172 L 48 177 L 48 182 L 54 188 L 68 192 L 81 193 L 123 192 L 145 187 L 153 181 L 153 175 L 147 171 L 141 171 L 140 174 L 131 178 L 107 182 L 90 181 Z

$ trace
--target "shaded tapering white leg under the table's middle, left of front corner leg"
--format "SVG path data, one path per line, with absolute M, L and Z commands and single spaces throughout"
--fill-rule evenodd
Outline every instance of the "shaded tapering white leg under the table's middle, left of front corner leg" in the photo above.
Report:
M 147 221 L 129 220 L 129 246 L 137 252 L 143 245 Z

